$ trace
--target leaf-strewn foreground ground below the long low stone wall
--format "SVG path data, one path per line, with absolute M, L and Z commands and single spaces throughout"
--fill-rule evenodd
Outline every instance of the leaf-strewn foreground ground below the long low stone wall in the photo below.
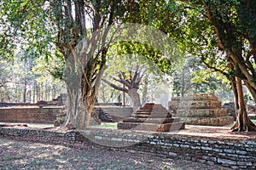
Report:
M 93 145 L 69 148 L 0 138 L 0 169 L 227 169 L 149 154 L 102 150 Z

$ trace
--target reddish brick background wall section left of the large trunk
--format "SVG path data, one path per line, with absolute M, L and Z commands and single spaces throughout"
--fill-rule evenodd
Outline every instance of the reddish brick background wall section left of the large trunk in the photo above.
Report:
M 53 123 L 62 107 L 10 107 L 0 108 L 0 122 Z

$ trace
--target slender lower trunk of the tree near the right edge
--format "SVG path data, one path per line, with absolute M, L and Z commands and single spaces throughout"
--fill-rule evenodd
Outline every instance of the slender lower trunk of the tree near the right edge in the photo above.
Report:
M 256 131 L 256 126 L 247 116 L 247 109 L 244 101 L 241 79 L 232 78 L 232 89 L 236 106 L 236 123 L 231 127 L 233 131 Z

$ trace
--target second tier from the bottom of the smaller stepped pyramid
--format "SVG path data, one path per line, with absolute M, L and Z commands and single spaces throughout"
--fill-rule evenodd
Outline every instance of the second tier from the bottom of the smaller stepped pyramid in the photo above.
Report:
M 123 120 L 123 122 L 145 122 L 145 123 L 170 123 L 170 122 L 180 122 L 179 118 L 138 118 L 138 117 L 127 117 Z

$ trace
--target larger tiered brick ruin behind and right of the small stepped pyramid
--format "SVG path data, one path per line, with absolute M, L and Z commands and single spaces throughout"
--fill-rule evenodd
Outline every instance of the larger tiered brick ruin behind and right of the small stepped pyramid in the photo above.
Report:
M 214 94 L 189 94 L 175 97 L 169 103 L 173 116 L 191 125 L 224 126 L 234 122 L 222 109 L 221 101 Z

